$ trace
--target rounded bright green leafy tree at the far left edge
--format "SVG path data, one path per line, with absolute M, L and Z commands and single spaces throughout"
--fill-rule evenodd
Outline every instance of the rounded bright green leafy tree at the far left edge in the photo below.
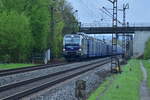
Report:
M 25 61 L 32 46 L 29 18 L 15 11 L 0 13 L 0 59 Z

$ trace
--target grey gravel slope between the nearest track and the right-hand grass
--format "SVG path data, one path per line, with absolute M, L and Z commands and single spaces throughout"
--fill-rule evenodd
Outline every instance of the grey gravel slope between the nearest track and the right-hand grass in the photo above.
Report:
M 89 94 L 102 83 L 104 77 L 110 75 L 108 73 L 109 70 L 110 64 L 105 64 L 56 87 L 26 97 L 23 100 L 77 100 L 75 97 L 75 83 L 77 80 L 86 81 L 86 93 L 88 97 Z

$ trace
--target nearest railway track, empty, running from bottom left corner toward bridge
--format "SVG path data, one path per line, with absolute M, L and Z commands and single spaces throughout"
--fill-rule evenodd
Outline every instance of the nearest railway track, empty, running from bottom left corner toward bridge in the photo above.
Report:
M 68 69 L 52 73 L 46 76 L 24 80 L 18 83 L 8 84 L 0 87 L 1 100 L 18 100 L 22 97 L 31 95 L 48 87 L 64 82 L 68 79 L 81 75 L 85 72 L 100 67 L 110 62 L 110 59 L 102 59 L 101 61 L 82 65 L 76 68 Z

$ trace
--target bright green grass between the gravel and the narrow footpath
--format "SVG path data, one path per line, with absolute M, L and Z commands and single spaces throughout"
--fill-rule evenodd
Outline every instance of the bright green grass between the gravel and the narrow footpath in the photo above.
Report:
M 142 72 L 138 60 L 130 60 L 122 74 L 108 78 L 88 100 L 140 100 Z

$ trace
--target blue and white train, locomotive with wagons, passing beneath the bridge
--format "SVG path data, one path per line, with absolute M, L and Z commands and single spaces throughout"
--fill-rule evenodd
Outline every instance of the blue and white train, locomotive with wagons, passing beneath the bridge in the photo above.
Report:
M 118 46 L 116 55 L 121 54 L 123 54 L 122 48 Z M 68 61 L 108 57 L 112 55 L 112 45 L 82 32 L 67 34 L 63 40 L 63 55 Z

